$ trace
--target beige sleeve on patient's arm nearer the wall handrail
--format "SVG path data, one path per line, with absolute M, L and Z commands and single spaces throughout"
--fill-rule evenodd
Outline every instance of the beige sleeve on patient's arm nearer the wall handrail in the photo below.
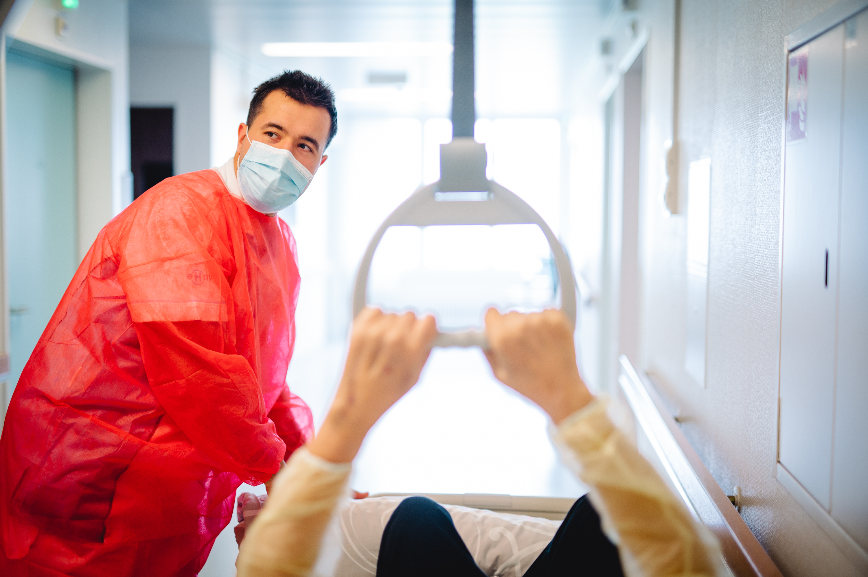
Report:
M 625 574 L 720 574 L 713 536 L 615 427 L 607 404 L 596 398 L 567 417 L 552 436 L 589 486 L 603 529 L 618 545 Z

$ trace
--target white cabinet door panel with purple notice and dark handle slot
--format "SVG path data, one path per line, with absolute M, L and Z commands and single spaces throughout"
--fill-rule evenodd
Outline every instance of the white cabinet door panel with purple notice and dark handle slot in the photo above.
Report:
M 790 56 L 780 462 L 829 509 L 843 26 Z M 806 98 L 799 96 L 806 94 Z

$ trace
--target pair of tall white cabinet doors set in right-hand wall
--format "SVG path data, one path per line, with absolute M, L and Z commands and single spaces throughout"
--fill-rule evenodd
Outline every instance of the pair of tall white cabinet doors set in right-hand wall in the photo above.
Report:
M 784 480 L 868 569 L 868 11 L 789 56 L 780 339 Z M 795 482 L 787 481 L 792 475 Z M 800 486 L 800 487 L 799 487 Z M 810 496 L 799 496 L 806 491 Z

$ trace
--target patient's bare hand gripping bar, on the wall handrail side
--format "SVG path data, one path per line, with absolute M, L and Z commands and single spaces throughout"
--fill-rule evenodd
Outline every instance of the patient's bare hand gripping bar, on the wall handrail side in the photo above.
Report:
M 485 351 L 495 377 L 542 407 L 552 421 L 591 400 L 575 364 L 573 331 L 561 311 L 485 313 Z

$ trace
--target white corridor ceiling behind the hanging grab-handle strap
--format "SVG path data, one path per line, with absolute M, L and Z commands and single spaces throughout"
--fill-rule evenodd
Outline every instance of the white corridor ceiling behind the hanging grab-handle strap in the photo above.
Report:
M 587 82 L 612 0 L 477 0 L 479 115 L 563 115 Z M 272 42 L 451 42 L 452 0 L 130 0 L 131 44 L 201 45 L 243 59 L 256 78 L 305 69 L 358 89 L 372 70 L 448 93 L 451 57 L 279 58 Z M 448 108 L 447 108 L 448 109 Z

